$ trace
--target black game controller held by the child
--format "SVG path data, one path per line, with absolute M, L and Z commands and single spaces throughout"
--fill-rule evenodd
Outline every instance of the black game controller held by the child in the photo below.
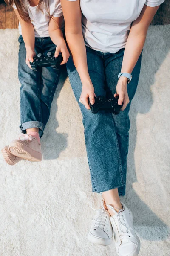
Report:
M 34 57 L 34 61 L 30 62 L 30 65 L 32 70 L 34 71 L 37 71 L 38 67 L 50 67 L 50 66 L 56 70 L 59 70 L 59 66 L 62 60 L 63 58 L 61 53 L 59 53 L 57 58 L 54 57 L 54 53 L 52 52 L 48 52 L 46 57 L 42 55 L 42 53 L 38 53 Z

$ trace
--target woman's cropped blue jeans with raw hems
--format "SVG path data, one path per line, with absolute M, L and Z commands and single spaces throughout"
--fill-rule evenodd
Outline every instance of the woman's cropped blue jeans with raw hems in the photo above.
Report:
M 124 49 L 115 54 L 102 53 L 89 47 L 86 47 L 86 51 L 88 72 L 96 96 L 113 96 L 116 93 L 117 76 L 121 71 Z M 69 58 L 66 67 L 74 95 L 79 102 L 82 83 L 72 58 Z M 130 103 L 136 92 L 140 67 L 141 56 L 133 69 L 132 81 L 127 84 Z M 79 103 L 93 192 L 118 188 L 119 195 L 125 195 L 130 103 L 119 115 L 103 111 L 93 114 Z

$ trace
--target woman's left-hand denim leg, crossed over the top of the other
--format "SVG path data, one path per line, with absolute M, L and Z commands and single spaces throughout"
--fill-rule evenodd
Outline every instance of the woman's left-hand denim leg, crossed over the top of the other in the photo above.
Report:
M 88 71 L 94 85 L 96 96 L 104 95 L 104 61 L 101 52 L 87 47 Z M 79 74 L 69 58 L 68 76 L 75 97 L 79 102 L 82 84 Z M 103 192 L 124 185 L 119 145 L 116 138 L 115 123 L 111 113 L 88 111 L 79 103 L 85 128 L 85 144 L 94 192 Z

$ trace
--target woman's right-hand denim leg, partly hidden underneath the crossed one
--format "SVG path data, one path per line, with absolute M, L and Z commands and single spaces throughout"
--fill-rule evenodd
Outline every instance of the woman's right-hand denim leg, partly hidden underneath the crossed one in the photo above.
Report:
M 116 54 L 105 54 L 105 90 L 107 92 L 107 95 L 114 95 L 114 93 L 116 93 L 116 85 L 118 81 L 117 76 L 122 67 L 123 55 L 123 49 L 117 52 Z M 137 89 L 140 67 L 141 56 L 139 57 L 139 60 L 137 61 L 136 66 L 133 69 L 132 81 L 130 82 L 130 84 L 127 84 L 127 92 L 130 99 L 130 103 L 127 105 L 124 111 L 120 111 L 119 115 L 113 115 L 116 127 L 116 135 L 119 143 L 124 181 L 126 181 L 127 153 L 129 147 L 129 110 L 131 101 Z M 125 185 L 119 187 L 118 190 L 119 195 L 125 195 Z

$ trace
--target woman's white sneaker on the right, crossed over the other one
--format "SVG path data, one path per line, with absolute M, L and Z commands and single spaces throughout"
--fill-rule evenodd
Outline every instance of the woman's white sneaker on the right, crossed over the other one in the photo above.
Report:
M 140 240 L 133 229 L 132 212 L 121 202 L 123 209 L 116 212 L 107 204 L 107 207 L 115 212 L 111 217 L 113 237 L 115 240 L 116 252 L 119 256 L 137 256 L 140 250 Z

